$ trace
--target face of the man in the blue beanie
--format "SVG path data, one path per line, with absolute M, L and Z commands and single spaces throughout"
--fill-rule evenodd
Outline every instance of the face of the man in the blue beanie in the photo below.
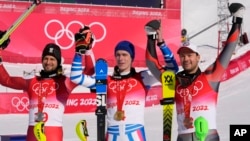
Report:
M 118 50 L 115 53 L 116 65 L 120 72 L 127 72 L 131 69 L 132 58 L 127 51 Z

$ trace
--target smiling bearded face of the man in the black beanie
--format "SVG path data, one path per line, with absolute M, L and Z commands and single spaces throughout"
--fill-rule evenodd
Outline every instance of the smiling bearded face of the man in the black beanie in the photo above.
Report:
M 51 72 L 56 70 L 58 63 L 55 57 L 46 55 L 42 60 L 42 65 L 45 72 Z

